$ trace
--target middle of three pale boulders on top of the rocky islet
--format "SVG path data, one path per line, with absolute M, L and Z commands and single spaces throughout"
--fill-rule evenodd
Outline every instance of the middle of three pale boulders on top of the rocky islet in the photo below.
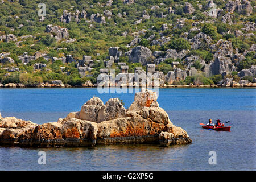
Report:
M 126 115 L 126 109 L 123 107 L 118 98 L 110 98 L 104 106 L 98 111 L 97 122 L 109 121 L 112 119 L 122 118 Z

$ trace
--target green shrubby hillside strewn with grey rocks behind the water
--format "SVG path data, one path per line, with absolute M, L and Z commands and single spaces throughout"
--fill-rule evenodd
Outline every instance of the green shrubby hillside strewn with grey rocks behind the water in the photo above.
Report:
M 256 82 L 256 1 L 43 3 L 0 1 L 2 86 L 93 86 L 110 68 L 162 86 Z

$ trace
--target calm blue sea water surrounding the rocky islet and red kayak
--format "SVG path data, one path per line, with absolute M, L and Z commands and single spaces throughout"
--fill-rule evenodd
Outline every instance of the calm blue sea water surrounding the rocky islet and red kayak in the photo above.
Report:
M 131 92 L 132 90 L 130 90 Z M 118 97 L 129 107 L 134 93 L 100 94 L 96 88 L 0 89 L 3 117 L 15 116 L 35 123 L 54 122 L 98 96 L 106 102 Z M 2 170 L 255 170 L 256 89 L 159 89 L 159 106 L 171 121 L 192 138 L 185 146 L 97 146 L 95 148 L 0 147 Z M 200 122 L 231 121 L 231 131 L 202 129 Z M 46 151 L 46 165 L 38 152 Z M 210 165 L 209 151 L 217 164 Z

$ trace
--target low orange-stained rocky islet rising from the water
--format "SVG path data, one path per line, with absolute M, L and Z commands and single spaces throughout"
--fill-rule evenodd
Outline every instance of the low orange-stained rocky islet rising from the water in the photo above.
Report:
M 93 97 L 80 112 L 69 113 L 57 122 L 37 125 L 0 115 L 0 145 L 32 147 L 84 147 L 107 144 L 188 144 L 187 132 L 172 124 L 159 107 L 156 93 L 135 94 L 126 110 L 118 98 L 104 105 Z

